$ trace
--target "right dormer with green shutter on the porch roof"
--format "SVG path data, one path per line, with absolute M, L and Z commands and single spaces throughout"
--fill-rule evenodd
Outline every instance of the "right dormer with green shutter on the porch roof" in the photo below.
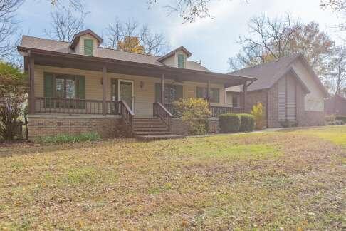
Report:
M 167 53 L 165 56 L 160 57 L 157 61 L 164 63 L 167 66 L 174 66 L 177 68 L 187 68 L 187 58 L 192 55 L 189 51 L 187 51 L 184 46 L 180 46 Z

